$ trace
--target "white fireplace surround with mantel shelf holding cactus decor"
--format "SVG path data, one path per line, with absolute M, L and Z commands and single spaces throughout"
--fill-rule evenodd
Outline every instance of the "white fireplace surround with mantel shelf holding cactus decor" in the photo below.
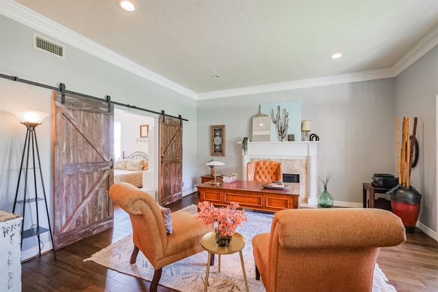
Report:
M 242 144 L 242 143 L 239 143 Z M 318 205 L 318 145 L 317 142 L 248 142 L 246 155 L 242 151 L 243 178 L 246 179 L 246 163 L 251 159 L 307 159 L 307 178 L 302 181 L 300 187 L 305 184 L 307 205 Z M 283 170 L 284 172 L 284 170 Z M 300 198 L 300 201 L 302 199 Z

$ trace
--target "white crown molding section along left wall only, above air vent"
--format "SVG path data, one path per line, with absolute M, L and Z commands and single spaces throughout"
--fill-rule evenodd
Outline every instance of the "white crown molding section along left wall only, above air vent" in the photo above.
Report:
M 12 0 L 1 0 L 0 1 L 0 14 L 12 18 L 14 21 L 18 21 L 23 25 L 27 25 L 33 29 L 37 29 L 43 34 L 47 34 L 51 38 L 56 38 L 61 42 L 65 42 L 70 46 L 76 47 L 81 51 L 85 51 L 86 53 L 90 53 L 94 55 L 94 57 L 98 57 L 99 59 L 103 59 L 110 64 L 114 64 L 120 68 L 123 68 L 133 74 L 136 74 L 144 79 L 148 79 L 153 83 L 157 83 L 162 85 L 164 88 L 168 88 L 175 92 L 179 92 L 184 96 L 188 96 L 190 98 L 196 99 L 196 92 L 167 79 L 166 77 L 162 77 L 157 73 L 144 68 L 135 62 L 132 62 L 130 59 L 118 55 L 114 53 L 100 44 L 96 42 L 92 42 L 88 38 L 81 36 L 80 34 L 75 33 L 74 31 L 63 27 L 59 23 L 55 23 L 51 21 L 49 18 L 42 16 L 34 12 L 33 10 L 29 10 L 25 6 L 18 4 Z

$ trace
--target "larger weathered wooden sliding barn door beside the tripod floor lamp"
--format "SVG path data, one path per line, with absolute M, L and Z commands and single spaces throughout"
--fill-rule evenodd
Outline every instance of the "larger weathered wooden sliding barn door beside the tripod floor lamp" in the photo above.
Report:
M 55 249 L 113 224 L 108 189 L 113 183 L 114 107 L 105 101 L 55 95 Z

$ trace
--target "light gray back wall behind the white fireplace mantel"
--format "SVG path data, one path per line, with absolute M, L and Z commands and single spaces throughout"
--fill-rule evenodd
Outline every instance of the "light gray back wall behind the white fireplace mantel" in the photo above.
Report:
M 252 118 L 263 103 L 301 101 L 302 120 L 320 137 L 318 175 L 333 174 L 329 191 L 338 204 L 361 207 L 362 183 L 375 172 L 394 173 L 394 80 L 381 79 L 315 88 L 198 101 L 198 170 L 207 174 L 209 126 L 226 125 L 226 165 L 221 172 L 242 176 L 237 142 L 250 137 Z M 322 185 L 318 183 L 318 192 Z M 357 204 L 350 204 L 357 203 Z

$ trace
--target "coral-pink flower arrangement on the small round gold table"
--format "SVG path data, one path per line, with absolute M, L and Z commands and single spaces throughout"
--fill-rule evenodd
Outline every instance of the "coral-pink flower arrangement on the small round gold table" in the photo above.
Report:
M 239 208 L 237 202 L 231 202 L 228 207 L 215 208 L 210 202 L 204 201 L 198 203 L 197 217 L 205 225 L 213 226 L 216 233 L 231 236 L 242 222 L 248 221 L 245 210 L 237 210 L 237 208 Z

